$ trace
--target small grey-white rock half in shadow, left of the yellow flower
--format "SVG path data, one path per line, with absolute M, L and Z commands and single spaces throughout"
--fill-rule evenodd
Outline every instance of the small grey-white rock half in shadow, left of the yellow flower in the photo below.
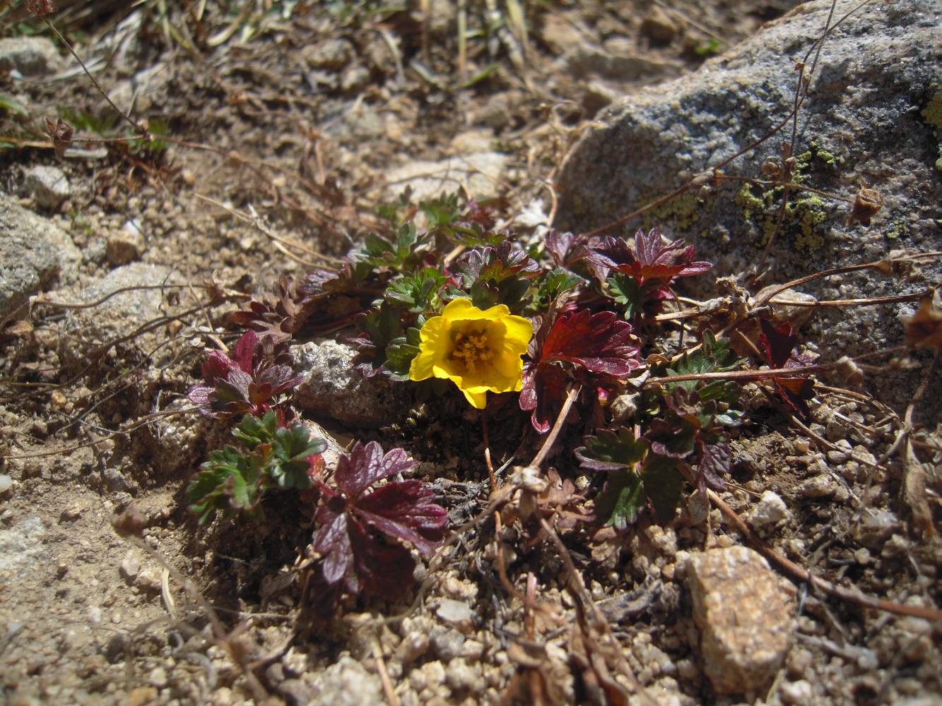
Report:
M 294 403 L 314 416 L 329 417 L 356 428 L 378 428 L 405 417 L 409 391 L 377 375 L 364 377 L 353 367 L 354 350 L 325 341 L 291 349 L 303 379 L 295 388 Z

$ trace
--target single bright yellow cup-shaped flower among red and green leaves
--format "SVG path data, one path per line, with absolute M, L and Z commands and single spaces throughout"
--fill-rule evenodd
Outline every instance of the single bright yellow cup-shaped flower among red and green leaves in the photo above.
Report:
M 447 378 L 476 409 L 484 409 L 488 391 L 518 393 L 523 387 L 521 356 L 533 327 L 503 304 L 482 312 L 470 299 L 453 299 L 441 316 L 425 322 L 420 336 L 411 379 Z

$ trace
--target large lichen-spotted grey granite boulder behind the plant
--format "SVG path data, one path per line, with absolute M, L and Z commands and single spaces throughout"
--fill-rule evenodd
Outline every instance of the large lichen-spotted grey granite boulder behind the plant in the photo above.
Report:
M 833 22 L 854 6 L 838 0 Z M 864 182 L 885 204 L 869 228 L 848 226 L 849 203 L 793 194 L 766 283 L 880 260 L 893 249 L 942 249 L 940 7 L 938 0 L 873 3 L 823 41 L 798 120 L 795 155 L 804 184 L 853 200 Z M 810 69 L 830 8 L 828 0 L 795 8 L 700 71 L 643 88 L 600 114 L 561 169 L 557 227 L 584 233 L 605 225 L 767 135 L 788 117 L 795 64 L 805 61 Z M 779 156 L 790 135 L 788 121 L 723 171 L 767 178 L 763 164 Z M 749 270 L 774 226 L 779 199 L 765 188 L 724 181 L 703 202 L 694 188 L 615 234 L 658 225 L 694 242 L 698 258 L 717 266 L 685 285 L 715 296 L 708 289 L 712 276 Z M 803 289 L 819 298 L 899 294 L 939 281 L 942 269 L 937 262 L 923 265 L 923 274 L 904 282 L 860 272 Z M 829 309 L 816 313 L 809 338 L 832 352 L 867 352 L 899 341 L 898 317 L 911 311 L 908 304 Z

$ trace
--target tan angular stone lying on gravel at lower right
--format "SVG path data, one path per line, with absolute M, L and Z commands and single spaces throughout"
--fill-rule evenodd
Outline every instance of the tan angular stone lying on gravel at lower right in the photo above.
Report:
M 691 554 L 688 583 L 716 692 L 740 694 L 771 682 L 791 647 L 794 589 L 760 554 L 739 546 Z

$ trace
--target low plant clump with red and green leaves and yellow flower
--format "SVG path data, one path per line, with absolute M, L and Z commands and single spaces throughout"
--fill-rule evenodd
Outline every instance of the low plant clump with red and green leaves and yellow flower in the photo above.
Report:
M 244 415 L 237 443 L 213 452 L 190 484 L 201 521 L 217 511 L 260 518 L 268 492 L 300 491 L 314 525 L 307 566 L 320 605 L 361 593 L 404 597 L 409 548 L 429 555 L 441 543 L 446 510 L 427 483 L 403 477 L 414 460 L 401 449 L 383 455 L 370 441 L 328 468 L 324 442 L 309 437 L 292 407 L 300 377 L 289 344 L 325 331 L 355 330 L 346 340 L 365 377 L 410 386 L 416 403 L 479 410 L 485 440 L 488 418 L 528 418 L 546 450 L 563 425 L 578 426 L 582 445 L 560 468 L 581 468 L 596 482 L 556 498 L 557 507 L 573 505 L 556 515 L 569 519 L 560 529 L 624 531 L 643 513 L 668 522 L 685 485 L 724 488 L 730 435 L 746 414 L 749 379 L 736 373 L 749 361 L 723 336 L 733 328 L 728 316 L 677 305 L 676 281 L 712 266 L 692 247 L 655 229 L 632 240 L 551 231 L 525 248 L 495 228 L 492 208 L 456 195 L 417 208 L 385 204 L 378 214 L 385 230 L 367 235 L 339 270 L 283 278 L 273 297 L 229 316 L 244 330 L 232 356 L 209 353 L 204 383 L 189 394 L 208 417 Z M 695 328 L 671 326 L 688 315 Z M 812 360 L 797 352 L 788 321 L 769 315 L 732 322 L 759 319 L 742 327 L 757 331 L 755 340 L 740 337 L 772 372 L 751 379 L 766 381 L 784 413 L 806 419 Z

